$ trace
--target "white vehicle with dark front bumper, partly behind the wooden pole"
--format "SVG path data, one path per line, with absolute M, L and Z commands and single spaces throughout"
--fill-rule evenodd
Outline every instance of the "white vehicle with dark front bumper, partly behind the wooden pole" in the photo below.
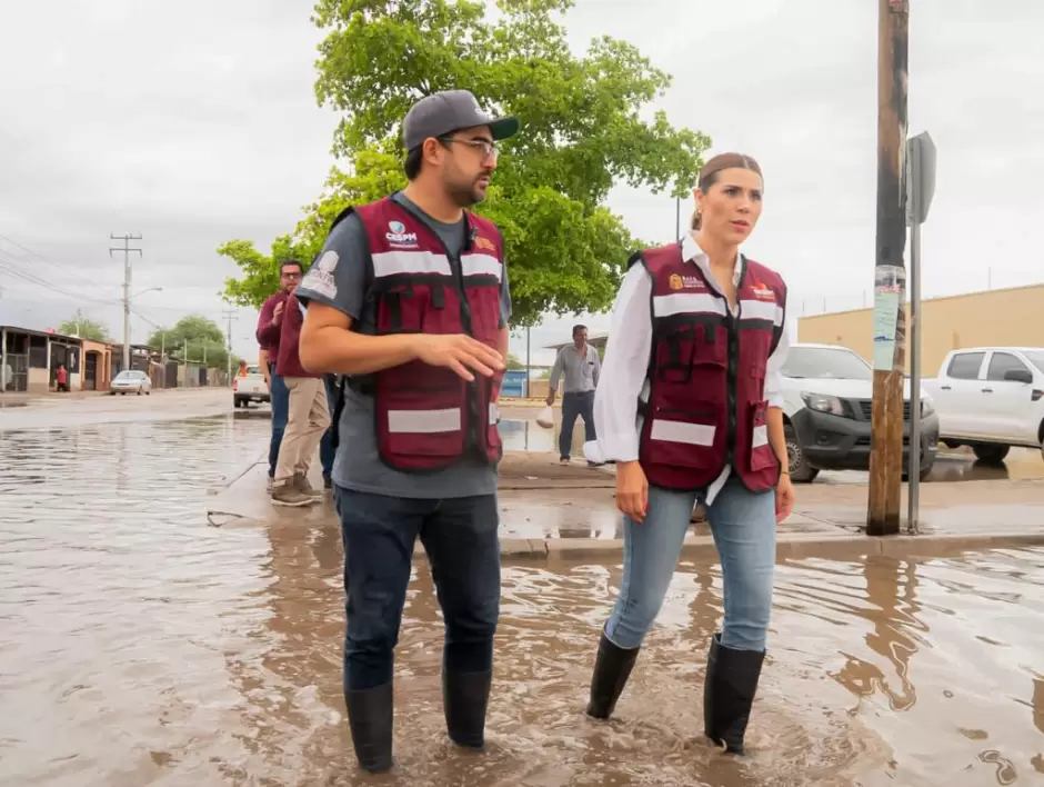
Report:
M 869 470 L 873 367 L 846 347 L 792 345 L 783 367 L 783 430 L 791 480 L 809 482 L 820 470 Z M 910 456 L 910 381 L 904 383 L 903 472 Z M 921 394 L 921 478 L 938 450 L 938 418 Z

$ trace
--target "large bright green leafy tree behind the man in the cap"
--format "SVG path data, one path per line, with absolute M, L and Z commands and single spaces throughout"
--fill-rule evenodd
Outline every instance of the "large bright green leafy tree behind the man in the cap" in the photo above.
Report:
M 504 235 L 513 325 L 608 308 L 624 261 L 646 245 L 604 207 L 610 189 L 622 181 L 683 193 L 710 140 L 644 112 L 671 78 L 632 44 L 603 37 L 573 53 L 560 21 L 572 6 L 499 0 L 489 14 L 472 0 L 319 0 L 313 19 L 327 37 L 315 93 L 343 113 L 333 150 L 347 166 L 281 240 L 310 260 L 343 207 L 401 187 L 406 110 L 422 96 L 468 88 L 523 122 L 476 208 Z M 227 282 L 233 302 L 257 305 L 274 291 L 278 249 L 265 256 L 232 241 L 219 251 L 244 272 Z

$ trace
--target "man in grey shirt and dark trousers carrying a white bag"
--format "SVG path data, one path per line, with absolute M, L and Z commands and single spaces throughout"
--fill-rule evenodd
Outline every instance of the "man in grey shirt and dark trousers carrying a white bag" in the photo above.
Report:
M 573 343 L 559 350 L 551 369 L 548 385 L 548 406 L 554 405 L 554 394 L 559 388 L 559 378 L 565 375 L 562 394 L 562 431 L 559 435 L 559 460 L 569 465 L 573 445 L 573 426 L 576 417 L 583 418 L 584 440 L 598 439 L 594 429 L 594 389 L 599 385 L 602 361 L 599 352 L 588 343 L 588 327 L 573 326 Z M 596 467 L 600 462 L 589 461 Z

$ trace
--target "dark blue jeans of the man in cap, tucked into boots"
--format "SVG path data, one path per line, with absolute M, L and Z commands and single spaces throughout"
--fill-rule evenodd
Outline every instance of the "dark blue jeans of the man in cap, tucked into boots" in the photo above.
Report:
M 492 669 L 500 615 L 496 496 L 429 500 L 335 487 L 335 497 L 344 544 L 344 690 L 392 679 L 418 537 L 445 621 L 442 668 Z

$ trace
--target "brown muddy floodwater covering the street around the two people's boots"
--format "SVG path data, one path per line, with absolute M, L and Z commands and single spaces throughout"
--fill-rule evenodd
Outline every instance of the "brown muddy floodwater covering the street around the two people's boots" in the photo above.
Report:
M 0 432 L 0 784 L 1044 783 L 1034 549 L 781 564 L 742 761 L 700 736 L 716 566 L 680 566 L 615 719 L 593 723 L 582 710 L 619 562 L 505 564 L 489 750 L 475 755 L 445 743 L 442 626 L 419 561 L 398 765 L 363 778 L 341 699 L 337 528 L 204 516 L 267 429 L 228 416 Z

